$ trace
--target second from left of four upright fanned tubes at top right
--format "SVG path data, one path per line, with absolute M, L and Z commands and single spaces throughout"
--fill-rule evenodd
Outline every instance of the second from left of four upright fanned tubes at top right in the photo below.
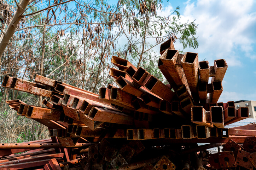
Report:
M 181 59 L 182 68 L 187 78 L 187 83 L 190 88 L 193 99 L 198 98 L 197 84 L 199 80 L 198 75 L 198 53 L 186 52 Z

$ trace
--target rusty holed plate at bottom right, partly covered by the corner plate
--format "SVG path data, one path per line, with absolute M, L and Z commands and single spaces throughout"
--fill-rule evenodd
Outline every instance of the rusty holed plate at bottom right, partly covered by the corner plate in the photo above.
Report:
M 237 159 L 236 159 L 237 165 L 253 170 L 254 165 L 248 159 L 249 155 L 251 155 L 251 153 L 239 149 L 237 153 Z

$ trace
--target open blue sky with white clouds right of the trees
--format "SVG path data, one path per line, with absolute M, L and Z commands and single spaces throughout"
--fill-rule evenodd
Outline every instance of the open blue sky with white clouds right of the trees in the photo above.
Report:
M 256 100 L 256 1 L 188 0 L 163 1 L 158 15 L 168 16 L 180 6 L 181 22 L 198 24 L 199 61 L 224 58 L 228 64 L 218 102 Z M 182 49 L 178 41 L 175 49 Z

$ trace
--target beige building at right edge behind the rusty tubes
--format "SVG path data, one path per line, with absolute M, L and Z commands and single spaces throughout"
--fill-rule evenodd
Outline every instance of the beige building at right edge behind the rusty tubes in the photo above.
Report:
M 248 107 L 249 108 L 249 118 L 256 119 L 256 101 L 253 101 L 253 100 L 235 101 L 235 108 L 238 109 L 239 107 Z

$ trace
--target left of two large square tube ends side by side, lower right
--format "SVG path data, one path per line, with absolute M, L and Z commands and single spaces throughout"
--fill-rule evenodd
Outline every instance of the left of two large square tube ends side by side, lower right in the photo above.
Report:
M 191 122 L 198 125 L 213 127 L 210 119 L 210 112 L 205 111 L 203 106 L 191 107 Z

